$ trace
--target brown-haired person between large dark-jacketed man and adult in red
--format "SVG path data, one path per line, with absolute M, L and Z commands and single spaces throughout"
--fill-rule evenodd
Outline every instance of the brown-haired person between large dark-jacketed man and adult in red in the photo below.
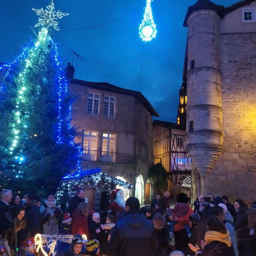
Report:
M 157 213 L 153 218 L 154 229 L 159 249 L 156 256 L 165 256 L 168 253 L 169 225 L 166 224 L 164 216 Z

